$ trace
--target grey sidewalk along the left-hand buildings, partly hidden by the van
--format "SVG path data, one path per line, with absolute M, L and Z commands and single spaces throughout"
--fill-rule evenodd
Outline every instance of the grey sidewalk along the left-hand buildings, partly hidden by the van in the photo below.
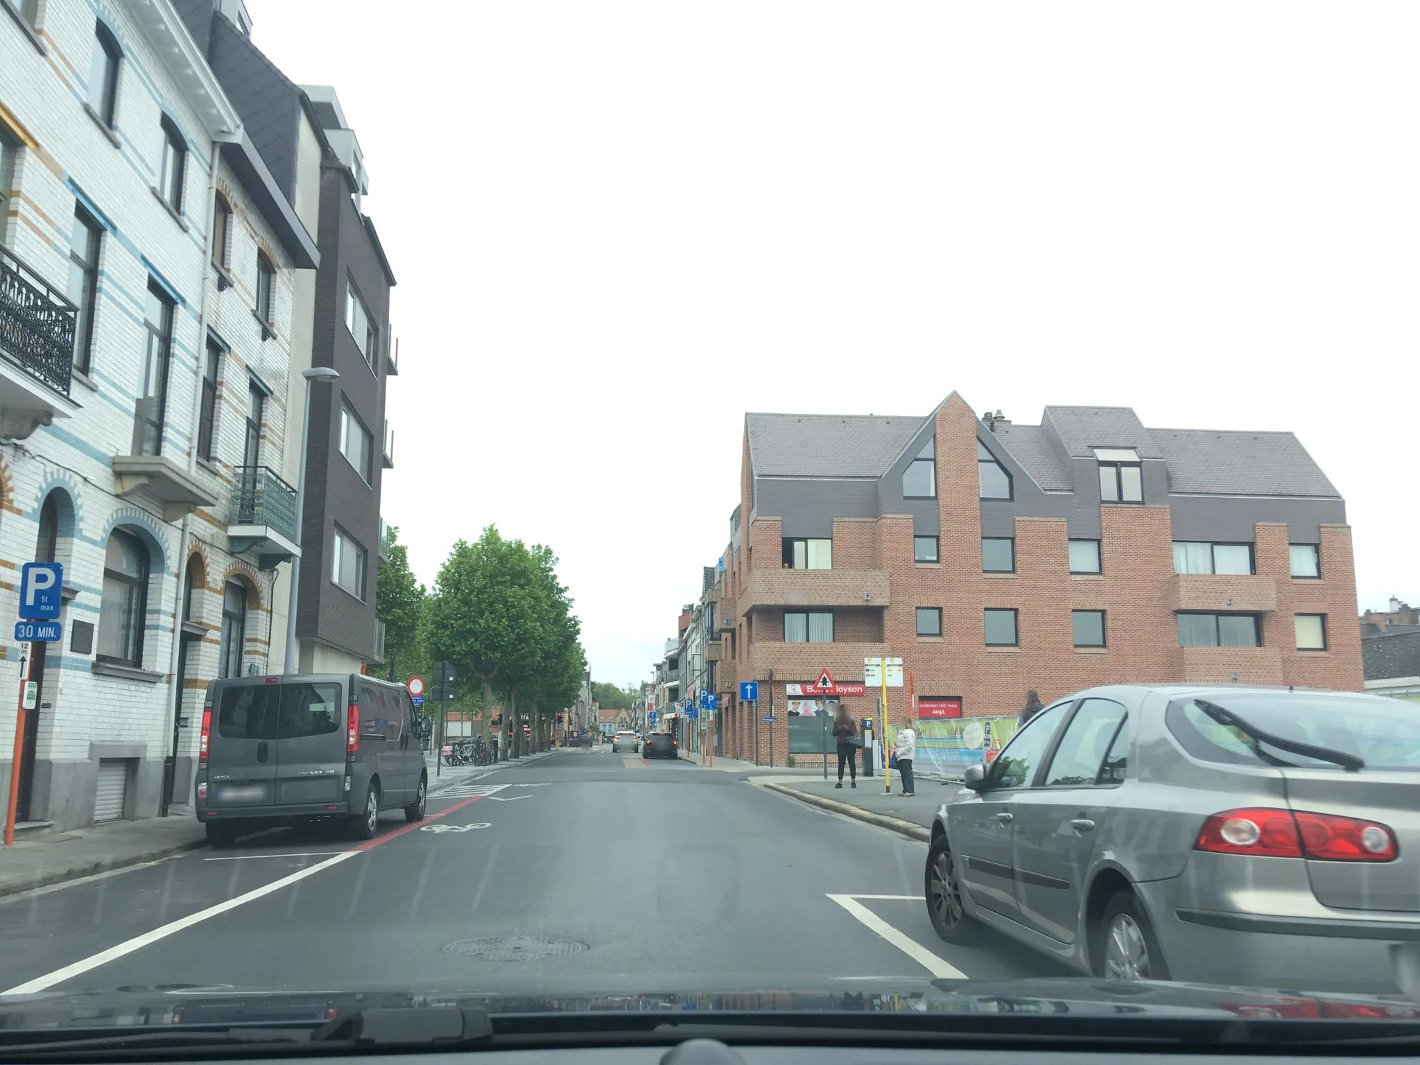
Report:
M 429 767 L 429 794 L 467 784 L 507 767 L 530 765 L 554 751 L 530 754 L 496 765 L 444 767 L 440 777 Z M 94 828 L 50 835 L 17 835 L 14 846 L 0 846 L 0 897 L 48 888 L 81 876 L 125 869 L 207 845 L 207 832 L 192 807 L 173 807 L 172 816 L 115 821 Z

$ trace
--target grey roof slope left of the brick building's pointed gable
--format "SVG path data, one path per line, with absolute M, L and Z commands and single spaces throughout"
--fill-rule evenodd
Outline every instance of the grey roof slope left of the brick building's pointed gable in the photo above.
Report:
M 757 477 L 880 477 L 927 419 L 746 415 Z

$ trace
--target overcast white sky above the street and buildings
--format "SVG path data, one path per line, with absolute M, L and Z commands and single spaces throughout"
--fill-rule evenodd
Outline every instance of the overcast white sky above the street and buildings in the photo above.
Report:
M 646 676 L 746 410 L 1294 430 L 1420 599 L 1420 4 L 247 0 L 399 287 L 385 517 L 551 544 Z

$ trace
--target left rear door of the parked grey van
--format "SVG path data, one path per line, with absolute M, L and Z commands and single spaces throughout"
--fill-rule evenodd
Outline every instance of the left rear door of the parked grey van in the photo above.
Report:
M 260 680 L 213 682 L 207 743 L 207 807 L 275 802 L 275 734 L 280 689 Z

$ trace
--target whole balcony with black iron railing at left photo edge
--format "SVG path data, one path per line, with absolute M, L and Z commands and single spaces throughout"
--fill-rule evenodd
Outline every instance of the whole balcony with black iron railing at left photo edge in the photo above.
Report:
M 0 437 L 23 440 L 78 412 L 70 399 L 77 315 L 57 288 L 0 246 Z

